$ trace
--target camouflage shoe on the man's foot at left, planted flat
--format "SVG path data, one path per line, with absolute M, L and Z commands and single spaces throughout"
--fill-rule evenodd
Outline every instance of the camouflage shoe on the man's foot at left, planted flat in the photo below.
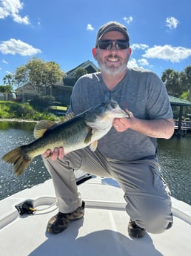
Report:
M 82 201 L 80 207 L 78 207 L 75 211 L 70 212 L 68 214 L 64 214 L 58 212 L 55 216 L 51 217 L 47 224 L 47 232 L 51 232 L 54 234 L 63 232 L 64 229 L 70 224 L 72 220 L 79 220 L 84 216 L 84 207 L 85 202 Z

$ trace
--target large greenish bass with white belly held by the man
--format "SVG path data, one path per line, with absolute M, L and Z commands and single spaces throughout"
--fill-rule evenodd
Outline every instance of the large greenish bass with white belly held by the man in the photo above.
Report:
M 98 140 L 112 128 L 113 119 L 121 117 L 130 116 L 111 99 L 76 116 L 70 114 L 66 116 L 67 120 L 58 124 L 40 121 L 34 128 L 36 140 L 4 154 L 2 160 L 13 164 L 19 176 L 34 157 L 43 154 L 48 148 L 53 150 L 63 147 L 67 154 L 90 145 L 91 150 L 95 151 Z

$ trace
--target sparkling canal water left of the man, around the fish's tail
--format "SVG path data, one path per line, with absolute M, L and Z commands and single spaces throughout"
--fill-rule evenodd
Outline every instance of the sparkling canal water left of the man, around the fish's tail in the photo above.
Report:
M 7 151 L 34 140 L 34 125 L 33 122 L 0 122 L 0 200 L 50 179 L 41 156 L 36 157 L 20 177 L 16 177 L 12 165 L 1 160 Z

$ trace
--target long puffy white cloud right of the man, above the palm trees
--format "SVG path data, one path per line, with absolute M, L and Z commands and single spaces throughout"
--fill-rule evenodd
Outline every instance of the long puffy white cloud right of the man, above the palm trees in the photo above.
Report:
M 191 49 L 184 47 L 172 47 L 172 45 L 155 45 L 143 54 L 144 58 L 164 59 L 170 62 L 181 62 L 191 56 Z

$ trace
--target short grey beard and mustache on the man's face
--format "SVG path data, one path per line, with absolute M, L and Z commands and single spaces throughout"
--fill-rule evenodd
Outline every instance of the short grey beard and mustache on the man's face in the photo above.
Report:
M 109 55 L 107 56 L 107 58 L 112 58 L 112 57 L 115 57 L 115 58 L 118 58 L 118 59 L 121 59 L 119 56 L 115 55 Z M 110 75 L 110 76 L 116 76 L 118 74 L 120 74 L 121 72 L 124 72 L 124 70 L 127 69 L 127 62 L 128 62 L 128 58 L 127 59 L 124 59 L 123 62 L 121 62 L 121 65 L 119 65 L 118 67 L 116 67 L 115 65 L 111 64 L 110 66 L 107 65 L 103 59 L 100 59 L 99 56 L 97 56 L 97 62 L 98 62 L 98 65 L 99 65 L 99 68 L 101 69 L 101 72 L 107 74 L 107 75 Z

